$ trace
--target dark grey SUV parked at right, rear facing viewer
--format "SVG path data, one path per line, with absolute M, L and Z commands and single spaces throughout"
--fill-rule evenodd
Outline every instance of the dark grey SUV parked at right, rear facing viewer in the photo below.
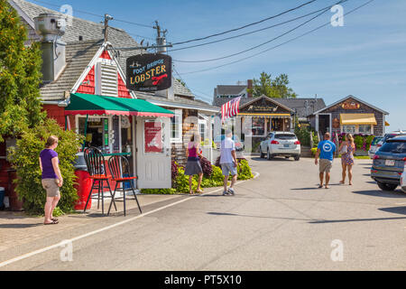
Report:
M 392 137 L 376 152 L 371 178 L 381 190 L 394 191 L 400 185 L 405 163 L 406 135 Z

